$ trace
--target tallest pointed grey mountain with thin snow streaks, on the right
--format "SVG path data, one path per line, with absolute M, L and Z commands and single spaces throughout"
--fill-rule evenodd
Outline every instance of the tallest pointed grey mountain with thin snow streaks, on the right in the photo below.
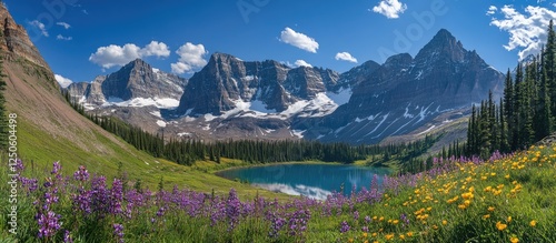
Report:
M 504 75 L 440 30 L 414 58 L 397 54 L 383 65 L 356 68 L 344 77 L 360 80 L 349 103 L 325 118 L 324 141 L 374 143 L 431 121 L 443 112 L 500 93 Z

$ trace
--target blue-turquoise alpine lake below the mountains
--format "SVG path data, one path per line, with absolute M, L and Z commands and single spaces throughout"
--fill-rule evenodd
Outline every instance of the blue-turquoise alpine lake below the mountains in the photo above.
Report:
M 305 195 L 324 200 L 334 191 L 349 195 L 355 186 L 370 188 L 374 175 L 378 183 L 389 173 L 388 169 L 377 169 L 339 164 L 275 164 L 267 166 L 239 168 L 220 171 L 217 175 L 229 180 L 248 181 L 251 185 L 290 195 Z

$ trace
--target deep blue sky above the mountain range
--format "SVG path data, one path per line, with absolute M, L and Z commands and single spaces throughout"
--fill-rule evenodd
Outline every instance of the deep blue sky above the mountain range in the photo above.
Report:
M 408 52 L 444 28 L 500 71 L 542 47 L 543 0 L 3 0 L 53 72 L 91 81 L 135 58 L 190 77 L 210 54 L 344 72 Z

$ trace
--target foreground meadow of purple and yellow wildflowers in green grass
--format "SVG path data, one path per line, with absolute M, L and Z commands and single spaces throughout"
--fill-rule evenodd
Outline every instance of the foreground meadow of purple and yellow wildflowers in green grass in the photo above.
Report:
M 2 160 L 0 196 L 9 199 Z M 2 203 L 2 242 L 554 242 L 556 146 L 490 161 L 436 161 L 416 175 L 326 201 L 236 190 L 207 194 L 130 189 L 86 168 L 64 174 L 22 170 L 18 234 Z M 26 165 L 26 164 L 23 164 Z M 21 170 L 21 164 L 18 166 Z M 66 176 L 69 175 L 69 176 Z M 240 191 L 240 190 L 238 190 Z M 11 240 L 10 240 L 11 239 Z

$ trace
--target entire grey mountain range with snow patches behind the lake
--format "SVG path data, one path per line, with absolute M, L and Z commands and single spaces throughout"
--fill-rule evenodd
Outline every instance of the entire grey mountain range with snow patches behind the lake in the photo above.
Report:
M 504 74 L 441 29 L 416 57 L 367 61 L 345 73 L 214 53 L 189 80 L 137 59 L 66 88 L 91 112 L 166 138 L 411 141 L 446 128 L 466 136 L 467 114 Z M 458 122 L 464 121 L 465 122 Z

